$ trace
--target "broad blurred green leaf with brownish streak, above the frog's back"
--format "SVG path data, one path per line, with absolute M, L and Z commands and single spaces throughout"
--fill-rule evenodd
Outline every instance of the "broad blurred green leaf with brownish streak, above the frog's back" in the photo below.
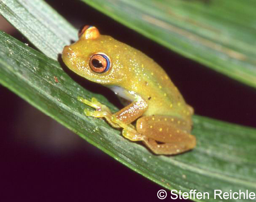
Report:
M 82 0 L 144 36 L 256 87 L 255 0 Z

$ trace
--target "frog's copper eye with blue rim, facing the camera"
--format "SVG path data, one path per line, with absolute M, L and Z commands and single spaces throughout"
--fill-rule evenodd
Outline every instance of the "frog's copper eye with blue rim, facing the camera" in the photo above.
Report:
M 106 72 L 107 70 L 109 70 L 110 64 L 111 61 L 109 59 L 109 56 L 104 53 L 96 53 L 92 55 L 89 62 L 91 70 L 96 73 Z

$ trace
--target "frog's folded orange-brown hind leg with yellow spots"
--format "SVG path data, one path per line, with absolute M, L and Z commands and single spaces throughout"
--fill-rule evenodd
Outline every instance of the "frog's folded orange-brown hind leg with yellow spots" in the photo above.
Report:
M 156 154 L 177 154 L 194 148 L 196 139 L 189 134 L 190 128 L 170 116 L 141 117 L 136 123 L 144 143 Z

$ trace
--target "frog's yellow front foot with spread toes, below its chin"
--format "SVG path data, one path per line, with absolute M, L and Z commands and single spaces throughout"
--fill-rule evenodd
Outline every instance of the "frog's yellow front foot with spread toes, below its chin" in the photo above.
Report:
M 89 105 L 96 109 L 95 111 L 90 111 L 88 109 L 85 109 L 84 113 L 86 116 L 96 117 L 96 118 L 104 117 L 104 118 L 106 118 L 107 122 L 111 126 L 113 126 L 115 128 L 120 128 L 120 126 L 117 123 L 112 121 L 113 115 L 112 115 L 110 109 L 106 105 L 103 105 L 100 102 L 98 102 L 98 100 L 95 97 L 91 98 L 91 101 L 86 100 L 82 97 L 77 97 L 77 99 L 80 102 L 85 103 L 86 105 Z

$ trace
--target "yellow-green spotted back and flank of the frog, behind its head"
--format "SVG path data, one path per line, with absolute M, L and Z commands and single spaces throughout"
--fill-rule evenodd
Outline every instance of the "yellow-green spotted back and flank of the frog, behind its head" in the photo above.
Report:
M 120 51 L 112 56 L 112 63 L 120 63 L 126 73 L 122 86 L 134 91 L 148 102 L 144 115 L 172 115 L 190 118 L 193 108 L 185 103 L 177 87 L 167 73 L 153 59 L 144 53 L 120 42 Z M 124 54 L 125 53 L 125 54 Z M 116 58 L 118 58 L 116 60 Z

